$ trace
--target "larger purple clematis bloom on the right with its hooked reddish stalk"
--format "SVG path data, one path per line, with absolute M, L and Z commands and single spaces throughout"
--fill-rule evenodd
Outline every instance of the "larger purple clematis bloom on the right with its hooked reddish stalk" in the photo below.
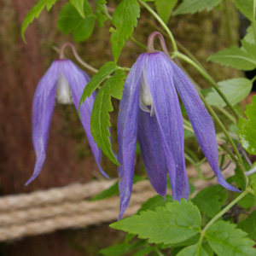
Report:
M 168 57 L 154 50 L 155 36 L 160 38 Z M 210 114 L 193 84 L 172 61 L 162 35 L 154 32 L 148 38 L 148 53 L 139 55 L 131 67 L 119 104 L 119 218 L 122 218 L 131 198 L 137 140 L 148 179 L 155 191 L 165 197 L 168 172 L 173 199 L 180 201 L 181 198 L 189 198 L 183 117 L 177 92 L 218 183 L 239 192 L 225 181 L 219 170 L 216 134 Z

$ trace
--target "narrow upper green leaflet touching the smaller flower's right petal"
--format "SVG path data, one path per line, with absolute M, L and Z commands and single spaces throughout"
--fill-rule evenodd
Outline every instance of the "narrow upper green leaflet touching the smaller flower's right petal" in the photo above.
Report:
M 94 75 L 92 79 L 90 79 L 90 82 L 86 84 L 83 94 L 81 96 L 80 102 L 79 102 L 79 108 L 81 104 L 85 101 L 87 97 L 90 97 L 92 92 L 96 90 L 96 88 L 102 84 L 102 82 L 107 79 L 108 75 L 113 73 L 118 67 L 113 61 L 109 61 L 105 63 L 100 70 Z

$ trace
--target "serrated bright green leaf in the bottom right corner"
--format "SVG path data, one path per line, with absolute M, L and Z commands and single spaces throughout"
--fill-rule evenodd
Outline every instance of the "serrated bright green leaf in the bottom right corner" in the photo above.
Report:
M 247 233 L 236 229 L 236 224 L 218 221 L 206 231 L 212 250 L 224 256 L 255 256 L 254 242 L 246 238 Z

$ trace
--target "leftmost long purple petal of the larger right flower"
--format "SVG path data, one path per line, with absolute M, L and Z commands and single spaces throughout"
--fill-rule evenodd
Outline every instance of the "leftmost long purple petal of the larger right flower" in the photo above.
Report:
M 135 150 L 137 143 L 137 116 L 139 109 L 140 77 L 146 55 L 140 55 L 125 81 L 123 97 L 119 103 L 118 143 L 119 143 L 119 194 L 122 218 L 131 198 L 134 172 Z

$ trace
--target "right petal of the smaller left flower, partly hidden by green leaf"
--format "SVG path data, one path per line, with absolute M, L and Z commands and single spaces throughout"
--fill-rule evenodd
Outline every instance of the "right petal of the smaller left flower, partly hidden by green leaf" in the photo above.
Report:
M 70 60 L 61 60 L 61 72 L 66 77 L 70 89 L 72 91 L 73 96 L 73 104 L 76 109 L 79 108 L 79 100 L 83 94 L 84 87 L 90 81 L 90 77 L 84 73 L 79 67 L 73 64 Z M 92 106 L 96 97 L 96 92 L 94 91 L 89 98 L 87 98 L 84 103 L 80 107 L 80 113 L 82 119 L 80 119 L 88 142 L 90 144 L 90 148 L 94 158 L 96 160 L 96 164 L 102 172 L 102 175 L 108 177 L 108 174 L 102 170 L 100 166 L 100 162 L 102 160 L 102 151 L 97 147 L 96 143 L 93 140 L 93 137 L 90 133 L 90 113 L 92 110 Z

